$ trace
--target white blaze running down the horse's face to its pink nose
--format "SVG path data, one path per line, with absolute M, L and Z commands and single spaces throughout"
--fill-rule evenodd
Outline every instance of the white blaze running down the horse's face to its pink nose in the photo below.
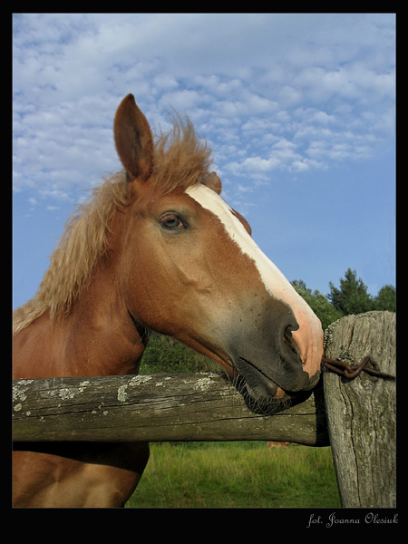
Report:
M 238 244 L 245 255 L 255 262 L 269 295 L 290 306 L 299 325 L 299 328 L 292 332 L 292 337 L 303 361 L 304 371 L 310 377 L 314 376 L 320 369 L 323 357 L 323 330 L 310 306 L 296 293 L 294 287 L 274 263 L 257 247 L 232 209 L 216 192 L 205 185 L 198 185 L 187 189 L 186 194 L 219 218 L 229 237 Z

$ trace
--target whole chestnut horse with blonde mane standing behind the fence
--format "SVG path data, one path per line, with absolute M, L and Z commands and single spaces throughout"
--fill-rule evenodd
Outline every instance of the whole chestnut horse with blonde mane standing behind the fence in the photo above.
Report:
M 207 143 L 173 121 L 153 134 L 133 95 L 121 101 L 123 168 L 74 212 L 15 310 L 15 379 L 137 374 L 156 331 L 217 361 L 257 402 L 316 385 L 320 321 L 220 196 Z M 148 459 L 143 442 L 24 444 L 14 506 L 123 507 Z

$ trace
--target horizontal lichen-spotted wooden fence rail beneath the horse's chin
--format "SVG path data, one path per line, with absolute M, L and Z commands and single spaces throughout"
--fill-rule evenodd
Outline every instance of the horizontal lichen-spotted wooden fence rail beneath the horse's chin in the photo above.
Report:
M 251 412 L 219 374 L 15 380 L 15 442 L 267 440 L 329 445 L 322 389 L 275 415 Z

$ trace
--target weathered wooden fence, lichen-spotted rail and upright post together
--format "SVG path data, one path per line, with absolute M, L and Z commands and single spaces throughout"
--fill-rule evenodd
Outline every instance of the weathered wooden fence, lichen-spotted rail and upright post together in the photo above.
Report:
M 356 364 L 365 355 L 395 374 L 393 313 L 328 327 L 325 356 Z M 67 441 L 331 445 L 343 506 L 395 506 L 395 383 L 368 374 L 354 381 L 324 374 L 306 400 L 273 415 L 252 412 L 220 374 L 15 380 L 13 432 L 16 448 L 35 451 Z

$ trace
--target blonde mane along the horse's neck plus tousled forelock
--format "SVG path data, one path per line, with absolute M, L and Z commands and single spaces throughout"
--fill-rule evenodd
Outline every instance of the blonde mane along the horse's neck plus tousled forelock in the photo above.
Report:
M 153 174 L 148 182 L 160 195 L 198 183 L 211 186 L 209 155 L 209 148 L 199 141 L 190 121 L 182 123 L 178 117 L 172 131 L 155 138 Z M 112 215 L 128 204 L 124 171 L 92 190 L 91 198 L 68 220 L 34 298 L 15 310 L 14 334 L 47 310 L 51 317 L 69 314 L 73 301 L 89 285 L 93 267 L 108 249 Z

